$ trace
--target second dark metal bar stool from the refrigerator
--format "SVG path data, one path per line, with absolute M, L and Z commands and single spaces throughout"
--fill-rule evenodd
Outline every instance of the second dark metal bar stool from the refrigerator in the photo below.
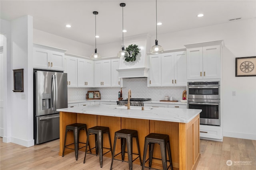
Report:
M 112 154 L 112 146 L 111 146 L 111 139 L 110 139 L 110 131 L 109 131 L 109 127 L 104 127 L 104 126 L 95 126 L 95 127 L 91 127 L 88 129 L 88 132 L 87 132 L 87 141 L 86 141 L 86 149 L 85 149 L 85 154 L 84 154 L 84 163 L 85 163 L 85 158 L 86 158 L 86 152 L 87 152 L 87 144 L 89 144 L 89 137 L 90 135 L 95 135 L 95 147 L 96 148 L 96 156 L 98 156 L 98 151 L 100 150 L 100 168 L 102 168 L 102 157 L 104 154 L 108 153 L 108 152 L 105 152 L 103 154 L 103 134 L 106 133 L 108 134 L 108 139 L 109 139 L 109 145 L 110 145 L 110 148 L 106 148 L 106 149 L 109 149 L 108 152 L 111 151 L 111 154 Z M 92 149 L 94 149 L 92 148 Z M 89 150 L 90 150 L 90 154 L 91 154 L 91 150 L 90 147 L 89 147 Z

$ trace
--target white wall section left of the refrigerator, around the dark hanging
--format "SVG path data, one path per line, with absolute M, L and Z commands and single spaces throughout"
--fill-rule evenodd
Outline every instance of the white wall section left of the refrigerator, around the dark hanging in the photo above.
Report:
M 1 20 L 2 24 L 5 22 Z M 3 27 L 8 27 L 8 23 Z M 4 70 L 10 76 L 7 80 L 8 105 L 4 109 L 4 142 L 17 143 L 26 147 L 34 145 L 33 139 L 33 18 L 24 16 L 10 22 L 10 65 Z M 8 56 L 9 57 L 9 56 Z M 24 69 L 24 92 L 12 92 L 13 69 Z M 21 95 L 26 99 L 22 100 Z M 8 111 L 7 109 L 8 108 Z M 6 118 L 5 118 L 6 116 Z

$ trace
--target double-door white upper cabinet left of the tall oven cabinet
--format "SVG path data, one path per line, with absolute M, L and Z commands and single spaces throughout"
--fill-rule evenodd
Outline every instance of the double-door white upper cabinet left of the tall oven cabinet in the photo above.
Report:
M 186 86 L 186 51 L 161 55 L 161 85 Z

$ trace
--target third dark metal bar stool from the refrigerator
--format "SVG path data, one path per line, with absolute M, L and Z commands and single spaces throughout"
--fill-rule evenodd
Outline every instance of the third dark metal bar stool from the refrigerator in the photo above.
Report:
M 137 142 L 137 148 L 138 148 L 138 157 L 136 157 L 134 160 L 136 160 L 137 158 L 140 158 L 140 166 L 142 166 L 142 162 L 141 162 L 141 156 L 140 156 L 140 146 L 139 146 L 139 139 L 138 139 L 138 131 L 136 130 L 130 130 L 130 129 L 121 129 L 120 131 L 116 131 L 115 132 L 115 138 L 114 138 L 114 148 L 113 148 L 113 153 L 112 153 L 112 162 L 111 162 L 111 166 L 110 166 L 110 170 L 112 170 L 112 165 L 113 165 L 113 161 L 114 161 L 114 157 L 117 156 L 118 154 L 122 154 L 122 160 L 124 161 L 124 153 L 125 153 L 125 146 L 127 143 L 127 152 L 128 153 L 128 163 L 129 163 L 129 169 L 132 170 L 132 162 L 134 160 L 132 160 L 132 138 L 136 138 L 136 142 Z M 121 139 L 121 152 L 119 152 L 118 154 L 115 155 L 115 149 L 116 149 L 116 139 Z M 115 160 L 119 160 L 119 159 L 115 159 Z M 127 162 L 127 161 L 124 161 Z

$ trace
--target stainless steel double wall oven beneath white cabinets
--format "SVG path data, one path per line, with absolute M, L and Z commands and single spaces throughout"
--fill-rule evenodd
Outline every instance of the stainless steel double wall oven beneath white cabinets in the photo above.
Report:
M 202 109 L 200 124 L 220 126 L 220 82 L 188 82 L 188 108 Z

